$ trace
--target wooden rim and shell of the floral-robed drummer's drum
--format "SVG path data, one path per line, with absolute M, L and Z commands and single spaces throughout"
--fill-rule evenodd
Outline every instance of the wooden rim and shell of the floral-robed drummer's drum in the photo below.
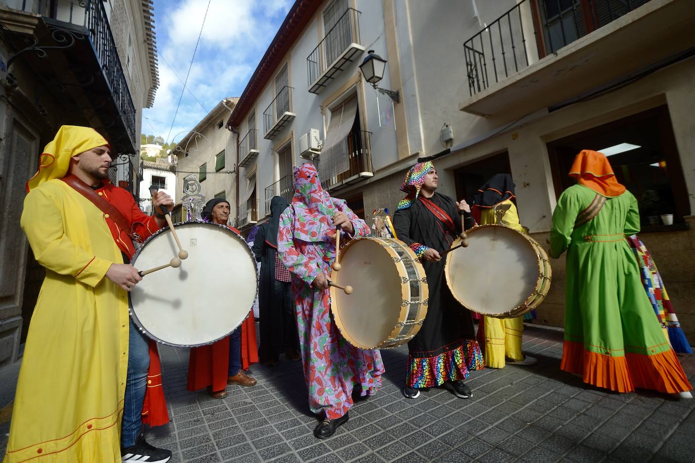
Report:
M 351 346 L 354 346 L 356 348 L 364 349 L 364 350 L 373 350 L 373 349 L 389 349 L 389 348 L 400 347 L 403 344 L 406 344 L 407 342 L 409 342 L 411 339 L 413 339 L 418 334 L 418 332 L 420 331 L 420 328 L 422 328 L 422 326 L 423 326 L 423 322 L 425 321 L 425 317 L 427 317 L 427 309 L 429 308 L 429 301 L 430 301 L 430 287 L 429 287 L 429 285 L 427 285 L 427 276 L 425 274 L 425 267 L 423 267 L 423 264 L 420 262 L 420 260 L 418 260 L 417 255 L 410 248 L 410 246 L 408 246 L 407 244 L 402 242 L 400 239 L 398 239 L 398 238 L 382 238 L 382 237 L 375 237 L 375 236 L 354 237 L 354 238 L 350 239 L 349 241 L 345 242 L 345 245 L 341 249 L 341 253 L 338 255 L 338 262 L 341 262 L 341 260 L 343 259 L 345 249 L 349 248 L 350 246 L 352 246 L 352 244 L 359 242 L 363 239 L 369 239 L 371 241 L 378 242 L 379 246 L 382 246 L 384 251 L 386 251 L 386 253 L 391 258 L 398 258 L 399 256 L 398 256 L 398 253 L 393 251 L 391 246 L 388 246 L 388 244 L 391 242 L 398 243 L 400 245 L 400 247 L 402 247 L 402 249 L 404 249 L 404 251 L 408 254 L 409 258 L 411 258 L 411 262 L 414 265 L 414 267 L 416 267 L 416 269 L 418 269 L 418 273 L 420 275 L 422 275 L 423 278 L 425 278 L 425 280 L 421 282 L 422 283 L 421 292 L 420 292 L 421 300 L 418 303 L 418 312 L 423 312 L 422 320 L 420 321 L 420 323 L 414 323 L 413 326 L 411 326 L 411 328 L 409 328 L 407 330 L 406 334 L 410 335 L 407 340 L 405 340 L 404 342 L 402 342 L 400 344 L 393 345 L 393 343 L 396 341 L 395 337 L 393 336 L 393 333 L 396 331 L 401 332 L 402 327 L 403 327 L 403 325 L 402 325 L 403 322 L 401 321 L 400 312 L 405 310 L 405 312 L 407 313 L 407 308 L 401 308 L 402 310 L 400 310 L 400 312 L 398 314 L 398 321 L 395 323 L 393 328 L 391 328 L 391 331 L 389 331 L 389 335 L 388 335 L 388 337 L 386 337 L 386 339 L 384 339 L 382 342 L 379 342 L 379 344 L 376 344 L 375 346 L 366 347 L 366 344 L 363 344 L 361 346 L 357 346 L 356 344 L 353 344 L 353 342 L 350 341 L 351 339 L 352 339 L 352 341 L 354 341 L 354 338 L 352 336 L 350 336 L 349 334 L 345 333 L 341 316 L 339 313 L 337 313 L 337 310 L 334 309 L 333 300 L 335 298 L 335 295 L 339 294 L 338 293 L 339 289 L 337 289 L 335 287 L 331 287 L 330 288 L 330 293 L 331 293 L 331 308 L 330 308 L 330 310 L 331 310 L 331 314 L 333 315 L 334 323 L 336 324 L 336 328 L 338 328 L 338 332 L 341 333 L 341 336 L 343 337 L 343 339 L 345 339 L 345 341 L 348 344 L 350 344 Z M 386 246 L 384 246 L 384 244 L 386 244 Z M 397 262 L 393 262 L 393 263 L 396 264 Z M 334 273 L 334 271 L 331 272 L 332 277 L 333 277 L 333 273 Z M 400 274 L 400 271 L 398 273 Z M 338 275 L 339 275 L 339 273 L 338 273 Z M 337 278 L 336 278 L 336 280 L 337 280 Z M 407 283 L 400 283 L 401 300 L 403 300 L 403 296 L 404 296 L 404 294 L 403 294 L 403 286 L 404 285 L 407 285 Z M 425 296 L 425 298 L 423 298 L 423 296 Z M 392 344 L 392 345 L 389 345 L 389 344 Z

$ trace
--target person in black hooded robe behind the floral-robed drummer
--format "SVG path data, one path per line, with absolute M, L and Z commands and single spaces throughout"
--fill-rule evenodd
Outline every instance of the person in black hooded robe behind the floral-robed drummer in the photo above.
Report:
M 288 207 L 286 199 L 270 200 L 270 220 L 261 225 L 254 239 L 253 251 L 261 262 L 259 318 L 261 347 L 259 357 L 266 365 L 275 365 L 285 351 L 290 360 L 300 360 L 299 335 L 292 301 L 292 276 L 277 259 L 277 229 L 280 214 Z

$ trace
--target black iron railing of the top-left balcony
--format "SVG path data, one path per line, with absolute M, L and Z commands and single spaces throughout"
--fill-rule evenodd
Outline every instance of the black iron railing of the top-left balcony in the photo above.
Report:
M 113 40 L 104 2 L 101 0 L 22 0 L 19 9 L 87 29 L 90 43 L 99 60 L 101 72 L 111 87 L 113 101 L 126 127 L 131 146 L 138 146 L 136 145 L 136 109 L 116 43 Z

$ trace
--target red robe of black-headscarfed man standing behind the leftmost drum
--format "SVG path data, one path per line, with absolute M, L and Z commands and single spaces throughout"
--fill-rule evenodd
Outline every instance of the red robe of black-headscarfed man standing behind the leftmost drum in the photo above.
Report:
M 234 227 L 230 230 L 239 233 Z M 259 361 L 258 345 L 256 344 L 256 326 L 254 314 L 241 323 L 241 368 L 248 369 Z M 209 346 L 190 349 L 188 360 L 189 391 L 197 391 L 211 386 L 215 392 L 227 389 L 227 373 L 229 370 L 229 336 Z

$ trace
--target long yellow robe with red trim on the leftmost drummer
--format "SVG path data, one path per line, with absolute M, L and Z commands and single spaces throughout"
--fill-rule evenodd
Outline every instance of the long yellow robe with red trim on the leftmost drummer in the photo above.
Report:
M 62 180 L 33 188 L 22 228 L 46 278 L 29 326 L 5 462 L 120 462 L 128 298 L 104 214 Z

